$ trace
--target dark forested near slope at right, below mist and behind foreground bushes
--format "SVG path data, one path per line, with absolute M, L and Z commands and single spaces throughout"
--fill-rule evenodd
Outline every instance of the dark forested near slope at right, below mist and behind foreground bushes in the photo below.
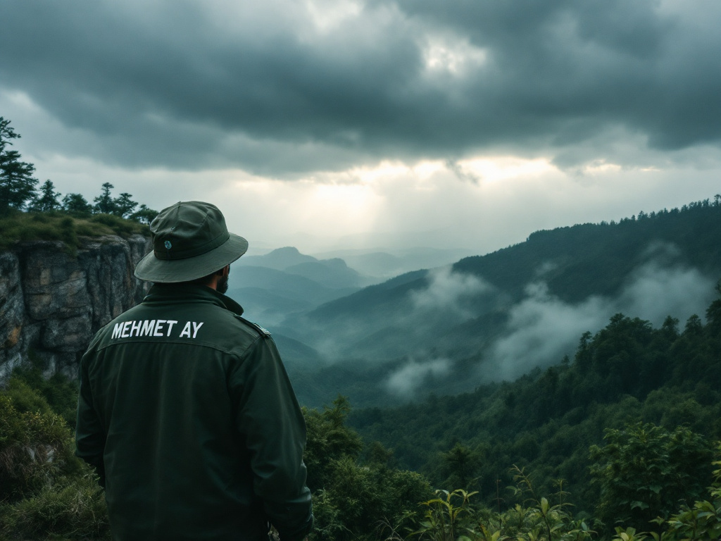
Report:
M 589 447 L 603 444 L 606 429 L 631 423 L 643 432 L 634 423 L 655 423 L 676 439 L 684 434 L 674 431 L 686 429 L 707 442 L 721 437 L 721 299 L 706 317 L 705 324 L 694 315 L 681 326 L 667 317 L 653 327 L 616 314 L 595 335 L 581 335 L 574 358 L 562 364 L 471 393 L 355 410 L 350 423 L 367 441 L 392 449 L 399 467 L 423 472 L 434 486 L 479 491 L 493 506 L 497 487 L 511 484 L 508 468 L 518 465 L 533 472 L 541 491 L 564 479 L 578 509 L 593 513 L 601 485 L 590 483 Z M 641 452 L 663 445 L 658 434 L 642 437 Z M 689 453 L 703 447 L 676 445 Z M 690 488 L 690 480 L 668 483 L 687 481 Z

